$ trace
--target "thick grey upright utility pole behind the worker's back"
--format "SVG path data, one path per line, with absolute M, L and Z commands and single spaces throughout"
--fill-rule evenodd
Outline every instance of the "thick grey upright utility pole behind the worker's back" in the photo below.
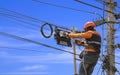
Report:
M 113 0 L 105 0 L 106 10 L 114 12 L 115 2 Z M 109 68 L 107 75 L 115 75 L 113 67 L 115 66 L 115 51 L 114 51 L 114 23 L 112 21 L 115 20 L 115 16 L 113 13 L 106 12 L 107 18 L 107 54 L 109 58 Z

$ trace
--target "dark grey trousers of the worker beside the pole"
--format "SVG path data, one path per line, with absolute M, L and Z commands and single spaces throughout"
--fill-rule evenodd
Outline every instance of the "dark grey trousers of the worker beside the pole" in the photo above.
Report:
M 85 53 L 82 57 L 79 75 L 91 75 L 99 58 L 99 54 Z

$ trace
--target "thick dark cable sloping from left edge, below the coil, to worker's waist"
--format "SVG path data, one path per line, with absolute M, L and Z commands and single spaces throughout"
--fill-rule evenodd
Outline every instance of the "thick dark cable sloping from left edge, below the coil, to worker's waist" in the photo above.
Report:
M 33 40 L 30 40 L 30 39 L 26 39 L 26 38 L 23 38 L 23 37 L 20 37 L 20 36 L 12 35 L 12 34 L 9 34 L 9 33 L 0 32 L 0 35 L 7 36 L 7 37 L 10 37 L 10 38 L 14 38 L 14 39 L 21 40 L 21 41 L 25 41 L 25 42 L 29 42 L 29 43 L 34 43 L 34 44 L 45 46 L 45 47 L 49 47 L 49 48 L 59 50 L 59 51 L 63 51 L 63 52 L 67 52 L 67 53 L 70 53 L 70 54 L 75 54 L 75 53 L 72 53 L 70 51 L 66 51 L 66 50 L 63 50 L 63 49 L 60 49 L 60 48 L 56 48 L 56 47 L 53 47 L 53 46 L 50 46 L 50 45 L 47 45 L 47 44 L 44 44 L 44 43 L 40 43 L 40 42 L 33 41 Z M 79 54 L 75 54 L 75 55 L 79 55 Z

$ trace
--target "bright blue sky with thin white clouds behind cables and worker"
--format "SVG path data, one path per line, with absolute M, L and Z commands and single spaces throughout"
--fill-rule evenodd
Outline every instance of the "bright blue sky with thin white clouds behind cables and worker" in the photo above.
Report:
M 40 0 L 43 2 L 53 3 L 56 5 L 62 5 L 79 10 L 85 10 L 89 12 L 96 12 L 102 15 L 102 11 L 80 4 L 74 0 Z M 99 7 L 103 5 L 95 0 L 81 0 Z M 118 5 L 120 1 L 116 0 Z M 39 20 L 47 21 L 58 26 L 65 26 L 69 29 L 75 26 L 77 30 L 83 30 L 84 23 L 87 21 L 95 20 L 100 16 L 89 14 L 80 11 L 69 10 L 65 8 L 58 8 L 41 3 L 34 2 L 32 0 L 0 0 L 0 12 L 4 14 L 17 16 L 19 21 L 15 18 L 7 18 L 0 13 L 0 31 L 14 34 L 17 36 L 25 37 L 37 42 L 45 43 L 54 47 L 72 51 L 72 48 L 59 46 L 55 43 L 53 36 L 51 38 L 44 38 L 40 33 L 40 26 L 42 22 L 33 22 L 33 20 L 24 18 L 17 14 L 2 10 L 1 8 L 9 9 L 21 14 L 37 18 Z M 116 8 L 116 10 L 119 10 Z M 20 18 L 19 18 L 20 17 Z M 26 24 L 20 22 L 20 20 L 31 23 Z M 106 29 L 106 26 L 104 27 Z M 119 25 L 115 25 L 116 29 L 120 29 Z M 102 35 L 102 26 L 96 28 Z M 106 38 L 106 30 L 104 30 L 104 38 Z M 115 43 L 120 42 L 119 30 L 115 33 Z M 105 41 L 103 42 L 106 43 Z M 73 56 L 69 53 L 57 51 L 48 47 L 12 39 L 0 35 L 0 75 L 73 75 Z M 7 49 L 2 47 L 14 47 L 22 49 Z M 103 46 L 102 49 L 105 49 Z M 31 50 L 37 50 L 31 51 Z M 83 47 L 77 47 L 77 53 L 83 50 Z M 119 51 L 116 49 L 116 62 L 119 60 Z M 105 51 L 105 50 L 103 50 Z M 78 58 L 78 57 L 77 57 Z M 77 61 L 77 72 L 79 69 L 79 61 Z M 96 75 L 100 63 L 95 67 L 93 75 Z M 120 65 L 117 65 L 120 70 Z M 100 71 L 101 72 L 101 71 Z M 117 73 L 116 73 L 117 75 Z

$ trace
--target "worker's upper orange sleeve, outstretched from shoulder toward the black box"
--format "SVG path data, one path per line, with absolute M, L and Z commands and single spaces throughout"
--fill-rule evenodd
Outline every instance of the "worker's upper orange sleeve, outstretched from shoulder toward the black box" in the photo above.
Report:
M 71 33 L 71 34 L 68 34 L 68 37 L 71 37 L 71 38 L 91 38 L 92 37 L 92 34 L 98 34 L 98 32 L 96 31 L 87 31 L 87 32 L 84 32 L 84 33 Z

